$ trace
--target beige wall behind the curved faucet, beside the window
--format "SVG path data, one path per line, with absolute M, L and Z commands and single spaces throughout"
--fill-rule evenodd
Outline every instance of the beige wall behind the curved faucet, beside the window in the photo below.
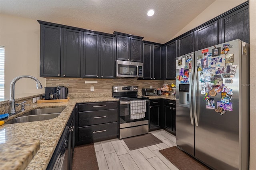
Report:
M 40 24 L 36 20 L 0 15 L 0 45 L 5 47 L 5 99 L 10 99 L 10 83 L 20 75 L 32 75 L 45 86 L 40 73 Z M 20 79 L 15 94 L 41 93 L 32 79 Z

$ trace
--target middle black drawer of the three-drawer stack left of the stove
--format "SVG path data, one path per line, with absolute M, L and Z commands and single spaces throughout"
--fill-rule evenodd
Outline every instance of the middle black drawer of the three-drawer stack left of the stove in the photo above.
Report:
M 78 127 L 117 122 L 118 109 L 79 112 L 78 120 Z

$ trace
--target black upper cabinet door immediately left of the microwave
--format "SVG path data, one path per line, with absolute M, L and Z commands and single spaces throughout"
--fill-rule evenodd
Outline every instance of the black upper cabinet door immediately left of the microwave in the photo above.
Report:
M 100 77 L 114 78 L 116 61 L 116 38 L 102 35 L 100 51 Z

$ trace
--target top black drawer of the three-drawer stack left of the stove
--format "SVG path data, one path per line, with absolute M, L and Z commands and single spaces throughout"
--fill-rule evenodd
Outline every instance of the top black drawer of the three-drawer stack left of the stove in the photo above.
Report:
M 78 111 L 99 111 L 106 109 L 117 109 L 118 102 L 100 102 L 78 104 Z

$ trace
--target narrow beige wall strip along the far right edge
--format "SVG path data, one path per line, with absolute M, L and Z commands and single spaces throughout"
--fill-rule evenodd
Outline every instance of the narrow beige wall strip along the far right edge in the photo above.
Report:
M 250 170 L 256 170 L 256 0 L 250 0 Z

